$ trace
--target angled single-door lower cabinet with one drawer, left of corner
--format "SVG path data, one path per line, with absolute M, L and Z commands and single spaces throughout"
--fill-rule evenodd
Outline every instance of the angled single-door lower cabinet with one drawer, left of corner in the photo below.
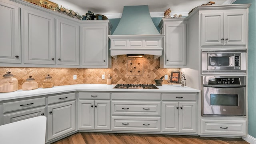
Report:
M 76 131 L 76 93 L 48 97 L 48 141 Z

